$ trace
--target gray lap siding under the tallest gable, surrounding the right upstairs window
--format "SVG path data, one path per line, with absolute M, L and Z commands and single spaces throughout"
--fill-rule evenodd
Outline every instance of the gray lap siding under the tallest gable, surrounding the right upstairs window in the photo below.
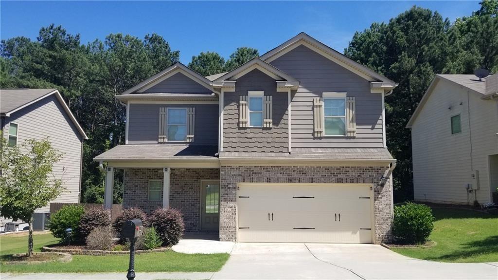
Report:
M 305 46 L 270 64 L 300 81 L 299 89 L 291 94 L 293 148 L 382 147 L 382 96 L 370 92 L 367 80 Z M 355 97 L 354 139 L 313 137 L 313 98 L 322 97 L 323 92 L 347 92 L 348 97 Z

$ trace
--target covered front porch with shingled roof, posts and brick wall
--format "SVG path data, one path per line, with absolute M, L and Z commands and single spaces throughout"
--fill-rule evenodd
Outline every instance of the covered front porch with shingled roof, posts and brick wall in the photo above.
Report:
M 122 145 L 98 157 L 106 166 L 105 207 L 112 207 L 114 173 L 124 170 L 123 207 L 181 211 L 187 236 L 218 236 L 220 167 L 216 147 Z M 199 235 L 201 236 L 201 235 Z

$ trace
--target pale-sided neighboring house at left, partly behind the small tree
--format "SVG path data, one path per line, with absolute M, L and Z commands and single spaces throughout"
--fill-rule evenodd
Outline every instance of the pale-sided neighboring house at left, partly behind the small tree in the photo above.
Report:
M 0 89 L 0 129 L 9 146 L 48 138 L 63 152 L 53 166 L 66 190 L 52 202 L 77 203 L 80 197 L 82 142 L 87 139 L 56 89 Z M 49 212 L 49 206 L 36 213 Z M 36 218 L 36 217 L 35 217 Z M 1 220 L 1 227 L 10 220 Z

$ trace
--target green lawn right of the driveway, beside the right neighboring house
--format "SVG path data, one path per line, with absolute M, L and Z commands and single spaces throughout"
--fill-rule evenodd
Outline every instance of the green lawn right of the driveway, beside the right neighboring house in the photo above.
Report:
M 428 248 L 392 248 L 399 254 L 438 262 L 498 262 L 498 216 L 466 209 L 433 208 L 436 217 Z

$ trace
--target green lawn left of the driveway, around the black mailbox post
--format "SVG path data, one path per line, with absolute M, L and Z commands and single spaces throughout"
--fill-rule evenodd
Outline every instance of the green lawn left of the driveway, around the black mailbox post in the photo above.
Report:
M 34 249 L 40 252 L 44 245 L 55 244 L 57 239 L 50 233 L 36 234 Z M 27 235 L 0 237 L 0 255 L 27 252 Z M 135 256 L 137 272 L 214 272 L 219 271 L 229 254 L 180 254 L 173 251 L 139 254 Z M 40 265 L 2 265 L 2 272 L 126 272 L 129 255 L 73 256 L 70 263 L 48 263 Z

